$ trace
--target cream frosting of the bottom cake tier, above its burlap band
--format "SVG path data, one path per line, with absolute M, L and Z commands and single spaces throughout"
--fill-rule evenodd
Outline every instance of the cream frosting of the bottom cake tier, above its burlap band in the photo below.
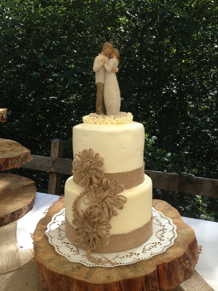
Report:
M 71 176 L 65 183 L 65 215 L 73 225 L 72 205 L 76 196 L 84 190 L 77 185 Z M 131 189 L 124 190 L 122 193 L 127 198 L 122 210 L 116 209 L 118 215 L 111 218 L 110 234 L 128 233 L 134 229 L 142 227 L 151 219 L 152 214 L 152 182 L 145 175 L 145 181 Z M 87 205 L 81 198 L 77 204 L 78 211 L 85 210 Z M 137 239 L 137 238 L 136 238 Z

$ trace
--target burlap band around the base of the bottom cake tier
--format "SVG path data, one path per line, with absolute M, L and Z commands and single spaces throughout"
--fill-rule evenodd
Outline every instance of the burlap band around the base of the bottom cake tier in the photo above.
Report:
M 94 249 L 93 252 L 116 253 L 139 247 L 145 241 L 148 241 L 148 239 L 152 236 L 152 223 L 153 219 L 151 217 L 151 219 L 140 228 L 137 228 L 128 233 L 112 234 L 110 235 L 109 243 L 107 245 L 106 239 L 104 239 L 102 244 Z M 76 241 L 77 234 L 75 230 L 76 228 L 74 228 L 65 217 L 66 236 L 73 244 L 86 251 L 88 249 L 86 244 L 84 244 L 82 241 Z

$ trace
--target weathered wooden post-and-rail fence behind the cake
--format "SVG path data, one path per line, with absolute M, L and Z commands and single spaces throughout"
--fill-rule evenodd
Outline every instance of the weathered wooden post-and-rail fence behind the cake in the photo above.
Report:
M 73 160 L 63 159 L 63 141 L 52 140 L 51 157 L 32 155 L 33 160 L 24 164 L 23 168 L 49 173 L 48 193 L 60 194 L 61 174 L 72 175 Z M 194 177 L 193 183 L 187 181 L 186 176 L 158 171 L 145 170 L 153 183 L 153 188 L 178 191 L 193 195 L 218 198 L 218 180 Z

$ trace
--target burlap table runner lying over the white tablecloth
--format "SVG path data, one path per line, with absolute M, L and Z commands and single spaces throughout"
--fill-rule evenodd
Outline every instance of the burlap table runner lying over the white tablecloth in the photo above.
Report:
M 17 222 L 0 227 L 0 291 L 44 291 L 36 276 L 33 249 L 19 250 Z M 116 267 L 115 267 L 116 268 Z M 215 291 L 195 271 L 173 291 Z

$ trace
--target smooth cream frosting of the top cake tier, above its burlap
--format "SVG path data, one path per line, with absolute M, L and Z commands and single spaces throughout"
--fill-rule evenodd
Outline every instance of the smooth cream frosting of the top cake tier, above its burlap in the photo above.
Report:
M 126 124 L 87 124 L 73 127 L 73 155 L 92 148 L 104 158 L 105 173 L 132 171 L 143 163 L 144 126 Z

